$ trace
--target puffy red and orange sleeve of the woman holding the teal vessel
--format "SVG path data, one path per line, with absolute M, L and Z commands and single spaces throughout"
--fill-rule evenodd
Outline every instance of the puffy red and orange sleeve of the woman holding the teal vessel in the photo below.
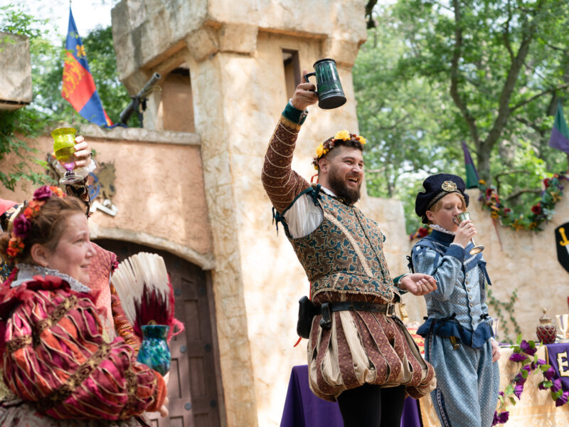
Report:
M 127 419 L 164 404 L 162 376 L 122 338 L 102 339 L 85 294 L 21 287 L 4 332 L 4 381 L 17 396 L 56 419 Z

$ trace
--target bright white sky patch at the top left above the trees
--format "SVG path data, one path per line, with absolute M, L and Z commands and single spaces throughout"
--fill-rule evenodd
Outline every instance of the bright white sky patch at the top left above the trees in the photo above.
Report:
M 106 27 L 111 24 L 111 9 L 119 0 L 73 0 L 71 10 L 80 37 L 97 25 Z M 0 6 L 14 4 L 38 19 L 50 19 L 50 35 L 53 41 L 67 36 L 69 23 L 69 0 L 0 0 Z

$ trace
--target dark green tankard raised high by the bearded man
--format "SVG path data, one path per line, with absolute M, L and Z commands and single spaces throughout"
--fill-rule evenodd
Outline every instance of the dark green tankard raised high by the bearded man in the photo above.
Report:
M 315 91 L 318 95 L 318 106 L 324 110 L 340 107 L 346 103 L 346 95 L 342 90 L 338 70 L 336 70 L 336 61 L 331 58 L 317 60 L 314 65 L 314 73 L 304 75 L 304 79 L 312 75 L 316 76 Z

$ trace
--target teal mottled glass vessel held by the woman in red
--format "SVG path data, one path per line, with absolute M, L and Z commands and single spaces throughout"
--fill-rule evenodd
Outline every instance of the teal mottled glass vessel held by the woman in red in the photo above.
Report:
M 168 325 L 144 325 L 142 327 L 142 345 L 137 360 L 166 375 L 170 370 L 170 347 L 166 337 L 170 327 Z

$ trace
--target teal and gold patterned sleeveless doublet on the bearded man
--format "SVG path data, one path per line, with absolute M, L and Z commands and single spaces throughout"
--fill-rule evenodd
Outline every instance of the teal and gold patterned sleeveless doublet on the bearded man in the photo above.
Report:
M 321 206 L 324 219 L 308 236 L 287 236 L 311 283 L 312 300 L 322 292 L 327 295 L 315 301 L 398 299 L 383 255 L 385 236 L 378 224 L 355 206 L 319 192 L 319 186 L 307 192 Z M 283 221 L 282 215 L 279 219 Z M 283 225 L 286 230 L 285 221 Z

